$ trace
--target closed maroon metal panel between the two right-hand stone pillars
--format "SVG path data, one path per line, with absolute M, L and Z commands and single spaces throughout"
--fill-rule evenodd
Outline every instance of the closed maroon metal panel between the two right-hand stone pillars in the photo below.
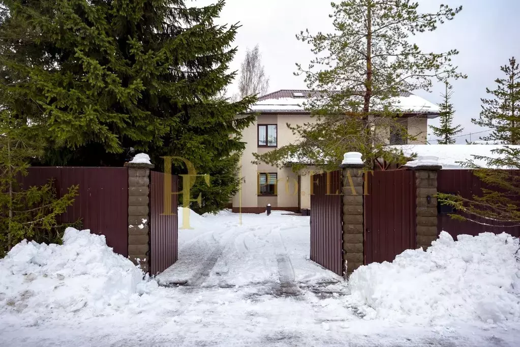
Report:
M 413 171 L 374 171 L 365 192 L 365 264 L 392 262 L 415 248 Z

